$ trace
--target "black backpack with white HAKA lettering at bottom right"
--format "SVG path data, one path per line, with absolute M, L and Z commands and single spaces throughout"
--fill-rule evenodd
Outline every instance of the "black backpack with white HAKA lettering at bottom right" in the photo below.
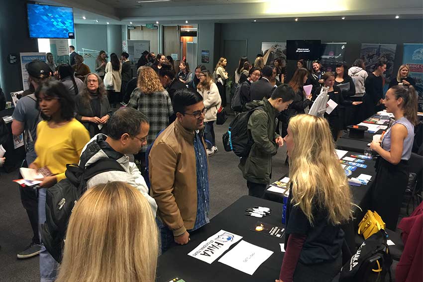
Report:
M 342 267 L 339 282 L 385 281 L 388 273 L 391 281 L 392 258 L 386 243 L 385 230 L 367 238 L 351 259 Z

